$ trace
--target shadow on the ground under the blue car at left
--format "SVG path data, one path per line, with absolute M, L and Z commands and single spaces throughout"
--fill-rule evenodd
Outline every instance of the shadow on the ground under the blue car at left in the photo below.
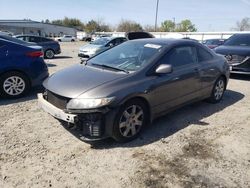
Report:
M 21 103 L 21 102 L 27 102 L 27 101 L 37 99 L 37 94 L 42 93 L 43 91 L 44 91 L 44 88 L 41 86 L 41 87 L 32 88 L 32 90 L 26 96 L 24 96 L 22 98 L 18 98 L 18 99 L 0 98 L 0 106 L 16 104 L 16 103 Z

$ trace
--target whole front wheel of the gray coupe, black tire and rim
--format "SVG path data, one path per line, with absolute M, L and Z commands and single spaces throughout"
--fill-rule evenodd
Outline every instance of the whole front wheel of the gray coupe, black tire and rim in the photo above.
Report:
M 140 134 L 148 119 L 148 109 L 141 100 L 132 100 L 121 106 L 113 127 L 113 138 L 128 142 Z

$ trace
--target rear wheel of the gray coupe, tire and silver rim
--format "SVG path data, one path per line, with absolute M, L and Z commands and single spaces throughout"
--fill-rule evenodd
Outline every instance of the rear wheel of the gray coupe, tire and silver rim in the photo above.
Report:
M 209 102 L 218 103 L 223 98 L 224 92 L 226 90 L 226 80 L 223 77 L 220 77 L 216 80 Z

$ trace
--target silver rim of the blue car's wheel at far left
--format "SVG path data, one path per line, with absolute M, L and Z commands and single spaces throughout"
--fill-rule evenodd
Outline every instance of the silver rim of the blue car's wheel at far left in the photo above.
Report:
M 25 90 L 25 82 L 18 76 L 11 76 L 4 81 L 3 89 L 8 95 L 20 95 Z

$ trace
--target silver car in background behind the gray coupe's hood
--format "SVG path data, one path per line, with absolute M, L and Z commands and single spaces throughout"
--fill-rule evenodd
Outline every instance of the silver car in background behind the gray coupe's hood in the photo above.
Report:
M 88 59 L 125 41 L 125 37 L 102 37 L 80 47 L 78 56 Z

